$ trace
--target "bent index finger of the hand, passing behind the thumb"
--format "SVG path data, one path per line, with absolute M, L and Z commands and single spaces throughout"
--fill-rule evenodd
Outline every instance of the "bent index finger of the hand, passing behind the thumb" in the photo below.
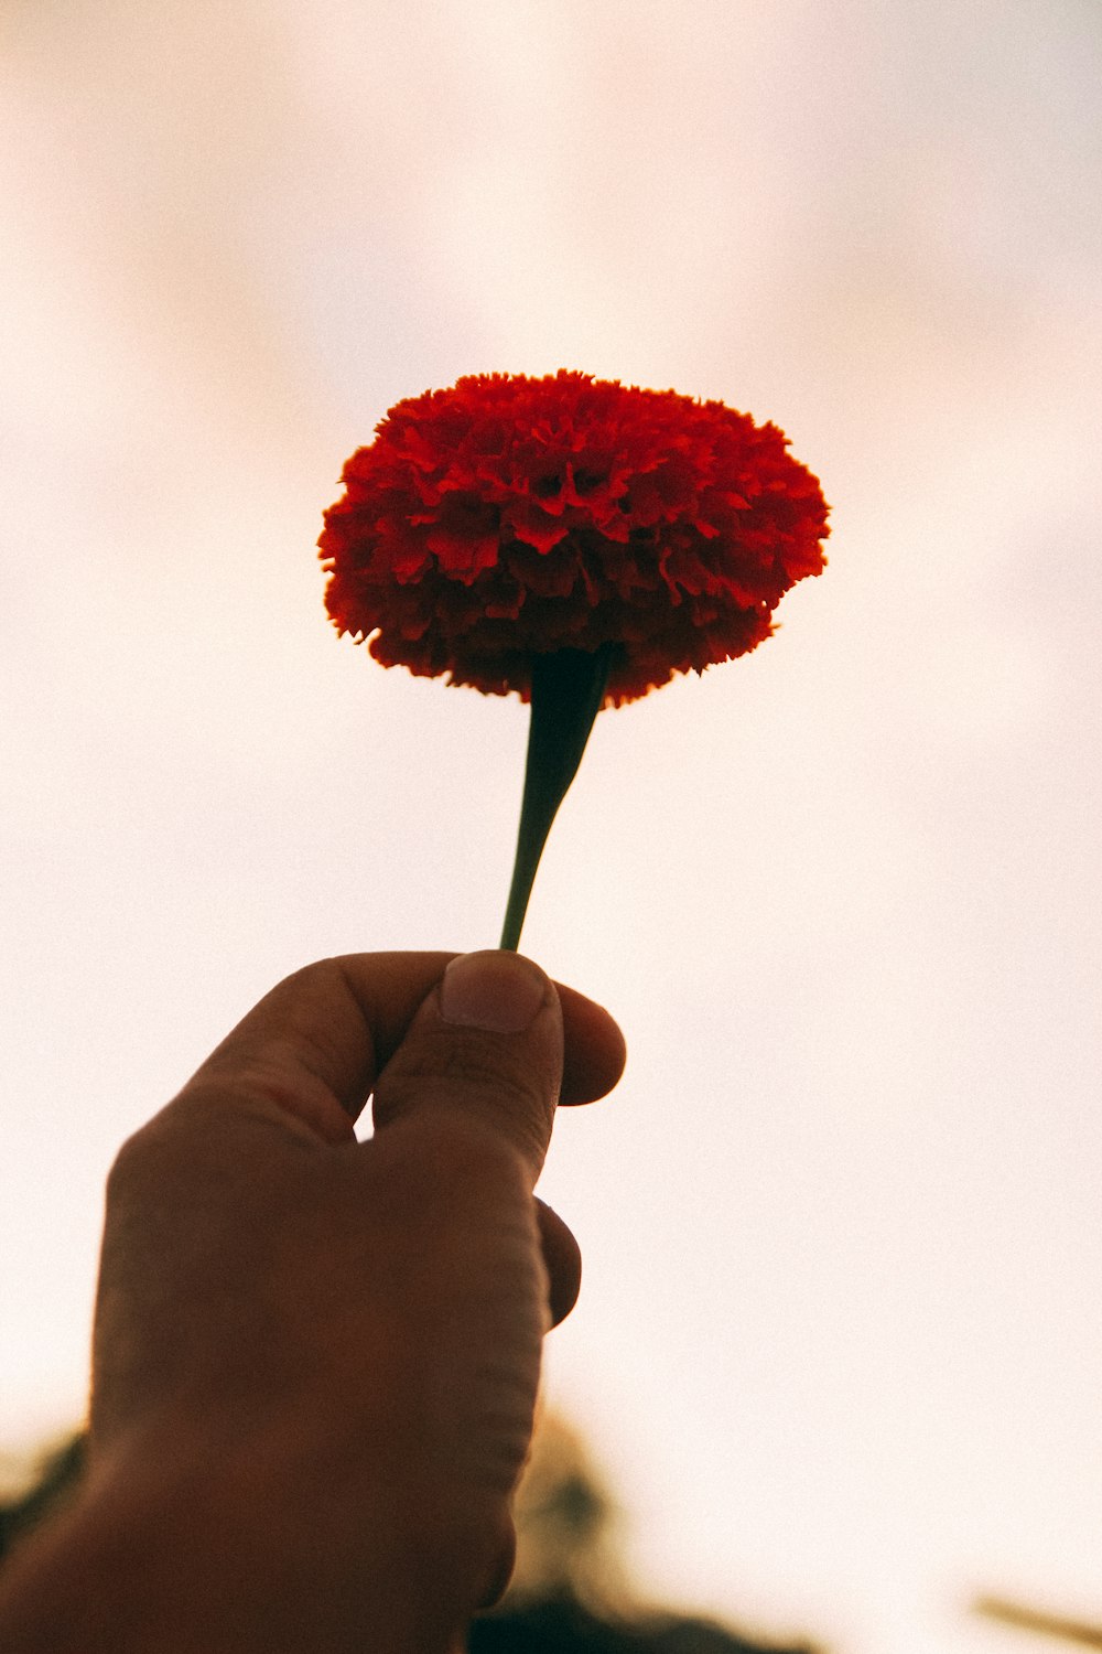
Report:
M 377 1075 L 454 953 L 350 953 L 284 978 L 192 1077 L 278 1102 L 327 1141 L 345 1141 Z M 623 1034 L 601 1006 L 555 984 L 563 1019 L 560 1103 L 605 1097 L 623 1073 Z

